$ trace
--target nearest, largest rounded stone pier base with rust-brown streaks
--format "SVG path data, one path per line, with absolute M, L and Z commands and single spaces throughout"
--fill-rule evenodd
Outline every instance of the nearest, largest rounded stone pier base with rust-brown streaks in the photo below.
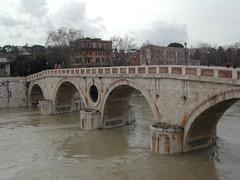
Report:
M 151 151 L 158 154 L 177 154 L 183 152 L 183 128 L 156 123 L 150 127 Z

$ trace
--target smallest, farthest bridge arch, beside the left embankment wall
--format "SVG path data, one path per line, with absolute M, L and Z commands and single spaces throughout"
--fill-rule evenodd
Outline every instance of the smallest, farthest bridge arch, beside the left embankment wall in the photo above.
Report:
M 39 101 L 44 99 L 44 91 L 41 85 L 37 82 L 31 83 L 28 88 L 28 107 L 36 107 Z

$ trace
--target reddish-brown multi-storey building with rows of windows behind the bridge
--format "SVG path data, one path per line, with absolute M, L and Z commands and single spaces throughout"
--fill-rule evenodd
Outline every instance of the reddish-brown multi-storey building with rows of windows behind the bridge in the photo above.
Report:
M 110 66 L 112 41 L 83 38 L 71 42 L 70 64 L 73 67 Z

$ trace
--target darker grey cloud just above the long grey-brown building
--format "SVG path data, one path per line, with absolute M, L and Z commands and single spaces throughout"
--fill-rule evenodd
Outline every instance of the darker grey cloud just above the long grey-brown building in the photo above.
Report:
M 149 41 L 158 45 L 168 45 L 171 42 L 183 43 L 188 40 L 187 26 L 156 21 L 149 29 L 138 32 L 136 39 L 139 43 Z

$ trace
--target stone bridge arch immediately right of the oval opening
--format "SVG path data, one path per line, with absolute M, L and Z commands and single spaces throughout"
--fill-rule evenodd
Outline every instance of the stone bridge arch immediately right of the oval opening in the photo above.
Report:
M 129 99 L 136 90 L 139 91 L 148 102 L 155 120 L 159 119 L 158 108 L 148 91 L 138 83 L 124 79 L 112 83 L 108 88 L 107 94 L 104 96 L 101 111 L 101 124 L 103 128 L 121 126 L 126 123 L 124 118 L 127 119 L 128 117 Z

